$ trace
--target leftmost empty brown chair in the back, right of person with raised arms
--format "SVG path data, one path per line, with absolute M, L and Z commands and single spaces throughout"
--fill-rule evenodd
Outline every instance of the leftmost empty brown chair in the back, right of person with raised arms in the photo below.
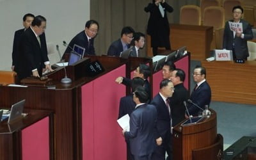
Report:
M 180 24 L 201 25 L 201 10 L 199 6 L 185 5 L 180 8 Z

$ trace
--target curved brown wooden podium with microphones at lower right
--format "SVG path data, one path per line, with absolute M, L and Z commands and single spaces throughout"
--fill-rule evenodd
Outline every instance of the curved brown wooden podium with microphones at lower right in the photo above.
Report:
M 217 134 L 216 112 L 202 122 L 175 125 L 173 128 L 173 159 L 218 160 L 223 157 L 223 138 Z

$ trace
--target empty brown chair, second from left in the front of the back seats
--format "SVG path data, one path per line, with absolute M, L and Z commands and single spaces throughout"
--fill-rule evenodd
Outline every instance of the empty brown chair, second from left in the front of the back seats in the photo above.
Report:
M 204 26 L 213 26 L 214 30 L 224 28 L 225 15 L 224 9 L 220 6 L 208 6 L 204 10 Z

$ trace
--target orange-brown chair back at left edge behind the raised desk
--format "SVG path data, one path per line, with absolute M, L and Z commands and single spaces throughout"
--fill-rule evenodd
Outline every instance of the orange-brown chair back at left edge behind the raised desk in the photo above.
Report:
M 8 84 L 15 84 L 17 74 L 13 71 L 0 70 L 0 84 L 5 86 Z

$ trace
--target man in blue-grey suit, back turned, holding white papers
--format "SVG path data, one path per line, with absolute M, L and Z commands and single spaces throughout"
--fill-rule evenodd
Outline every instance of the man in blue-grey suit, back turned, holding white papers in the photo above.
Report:
M 130 131 L 123 131 L 125 140 L 129 141 L 134 160 L 150 160 L 156 147 L 157 111 L 150 104 L 146 104 L 148 94 L 142 86 L 136 88 L 133 95 L 136 103 L 130 118 Z

